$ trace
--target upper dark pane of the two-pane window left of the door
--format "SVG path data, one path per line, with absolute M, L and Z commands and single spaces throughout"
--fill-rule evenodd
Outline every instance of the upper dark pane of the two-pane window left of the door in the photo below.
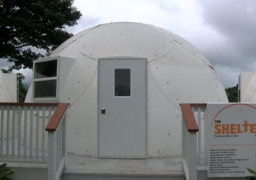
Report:
M 35 79 L 51 78 L 57 75 L 57 60 L 35 63 Z

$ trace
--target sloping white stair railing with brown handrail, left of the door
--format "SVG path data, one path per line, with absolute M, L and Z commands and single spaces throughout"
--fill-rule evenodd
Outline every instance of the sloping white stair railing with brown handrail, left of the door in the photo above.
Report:
M 50 122 L 48 131 L 48 180 L 59 180 L 65 168 L 66 109 L 69 104 L 59 104 Z

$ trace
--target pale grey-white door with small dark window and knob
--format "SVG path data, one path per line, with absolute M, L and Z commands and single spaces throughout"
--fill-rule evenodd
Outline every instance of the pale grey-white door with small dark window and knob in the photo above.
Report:
M 146 158 L 146 59 L 100 59 L 98 155 Z

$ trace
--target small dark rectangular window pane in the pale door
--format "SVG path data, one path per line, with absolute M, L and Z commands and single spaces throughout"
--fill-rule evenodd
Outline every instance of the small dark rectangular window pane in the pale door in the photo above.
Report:
M 131 96 L 130 74 L 130 69 L 115 69 L 115 96 Z

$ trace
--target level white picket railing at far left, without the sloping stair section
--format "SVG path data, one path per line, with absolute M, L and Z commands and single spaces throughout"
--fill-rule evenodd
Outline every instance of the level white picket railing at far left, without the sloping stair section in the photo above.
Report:
M 45 127 L 57 105 L 0 103 L 1 161 L 46 163 Z

